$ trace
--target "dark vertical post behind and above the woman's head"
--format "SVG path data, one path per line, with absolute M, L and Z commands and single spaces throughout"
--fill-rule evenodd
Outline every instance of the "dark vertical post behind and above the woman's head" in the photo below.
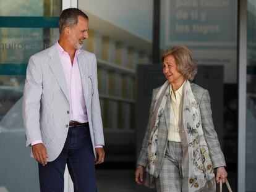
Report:
M 153 6 L 153 64 L 158 64 L 160 62 L 160 1 L 161 0 L 154 0 Z

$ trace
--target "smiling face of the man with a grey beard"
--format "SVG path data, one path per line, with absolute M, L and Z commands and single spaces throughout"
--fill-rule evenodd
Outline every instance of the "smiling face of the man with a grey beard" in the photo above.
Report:
M 78 22 L 77 25 L 70 28 L 70 34 L 68 36 L 68 40 L 70 45 L 74 49 L 80 49 L 83 46 L 83 40 L 86 40 L 89 35 L 89 22 L 87 19 L 83 18 L 82 16 L 77 17 Z

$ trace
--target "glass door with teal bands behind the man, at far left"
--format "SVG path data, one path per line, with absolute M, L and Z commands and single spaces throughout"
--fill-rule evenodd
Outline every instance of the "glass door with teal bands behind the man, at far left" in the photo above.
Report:
M 0 191 L 39 191 L 25 147 L 22 94 L 28 58 L 59 38 L 62 1 L 0 1 Z

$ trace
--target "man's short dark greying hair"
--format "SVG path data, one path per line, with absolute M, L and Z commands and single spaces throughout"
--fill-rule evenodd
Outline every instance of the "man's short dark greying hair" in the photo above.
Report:
M 78 16 L 88 20 L 87 14 L 77 8 L 69 8 L 62 11 L 59 16 L 59 33 L 62 33 L 65 27 L 74 27 L 78 23 Z

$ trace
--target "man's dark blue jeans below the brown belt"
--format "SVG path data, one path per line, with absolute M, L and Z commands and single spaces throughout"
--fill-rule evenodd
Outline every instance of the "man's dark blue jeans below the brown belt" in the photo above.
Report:
M 75 192 L 95 192 L 95 156 L 88 123 L 70 127 L 66 143 L 57 159 L 39 167 L 41 192 L 63 192 L 64 171 L 69 169 Z

